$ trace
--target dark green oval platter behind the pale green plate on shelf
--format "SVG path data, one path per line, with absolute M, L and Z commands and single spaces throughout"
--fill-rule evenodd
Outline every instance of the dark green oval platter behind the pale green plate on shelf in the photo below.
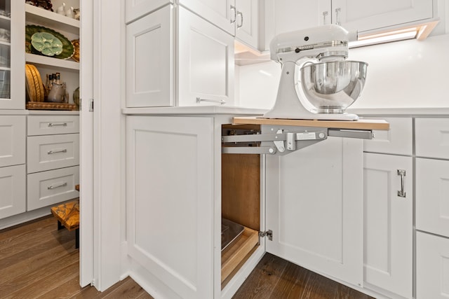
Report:
M 62 43 L 62 52 L 59 54 L 56 54 L 53 56 L 55 58 L 67 60 L 74 54 L 74 47 L 71 41 L 69 41 L 65 36 L 60 34 L 59 32 L 55 32 L 55 30 L 42 27 L 42 26 L 36 26 L 36 25 L 27 25 L 25 26 L 25 52 L 26 53 L 32 53 L 37 55 L 43 55 L 43 56 L 49 56 L 44 53 L 42 53 L 40 50 L 34 48 L 32 45 L 32 36 L 36 33 L 48 33 L 55 37 L 55 40 L 60 41 Z M 39 35 L 38 35 L 39 36 Z M 36 37 L 36 36 L 35 36 Z M 37 48 L 39 48 L 38 44 L 35 43 Z M 58 53 L 58 52 L 57 52 Z

